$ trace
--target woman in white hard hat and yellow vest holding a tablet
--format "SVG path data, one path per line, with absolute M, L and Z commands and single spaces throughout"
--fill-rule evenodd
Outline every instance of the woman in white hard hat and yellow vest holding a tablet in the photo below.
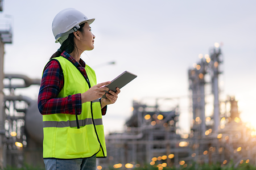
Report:
M 52 22 L 55 42 L 61 46 L 44 68 L 38 96 L 46 169 L 96 169 L 96 157 L 106 158 L 102 115 L 120 90 L 101 98 L 110 82 L 97 84 L 94 70 L 80 58 L 94 48 L 93 21 L 67 8 Z

